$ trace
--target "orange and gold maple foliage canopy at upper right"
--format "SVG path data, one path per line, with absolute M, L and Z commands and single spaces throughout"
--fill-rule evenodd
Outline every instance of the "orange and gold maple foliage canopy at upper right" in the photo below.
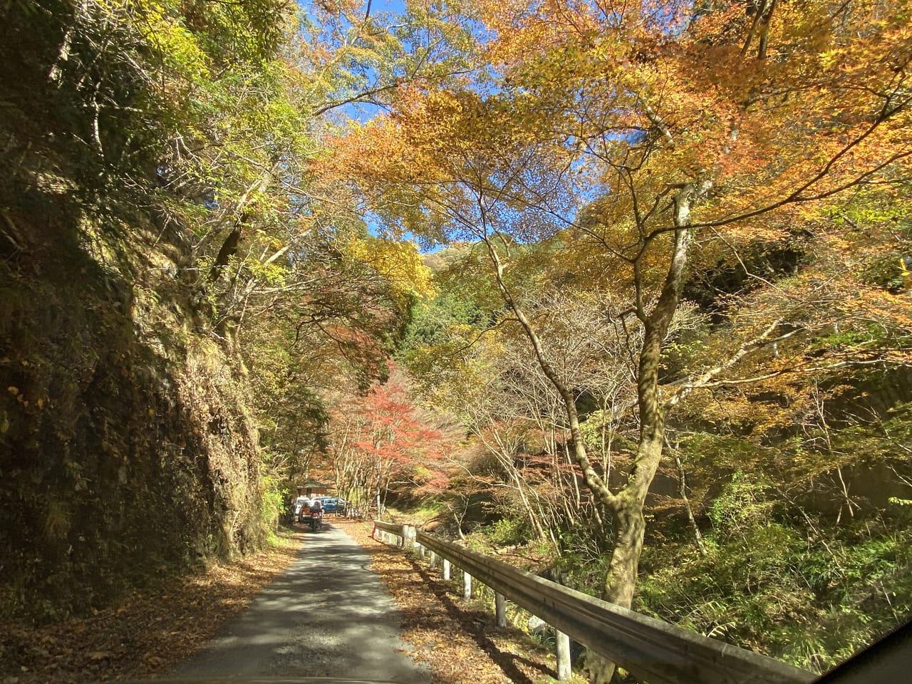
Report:
M 463 180 L 482 151 L 496 158 L 536 146 L 562 158 L 548 171 L 586 171 L 614 192 L 626 190 L 618 168 L 629 171 L 646 201 L 710 177 L 716 190 L 696 221 L 719 228 L 873 181 L 912 154 L 912 47 L 901 8 L 778 6 L 767 58 L 756 59 L 741 54 L 751 45 L 741 5 L 686 25 L 674 5 L 626 15 L 587 3 L 522 5 L 477 2 L 492 36 L 478 46 L 484 77 L 399 88 L 389 116 L 335 141 L 324 171 L 357 177 L 389 212 L 391 185 L 423 192 Z M 663 11 L 665 25 L 656 20 Z M 653 139 L 657 121 L 663 134 Z M 420 229 L 420 218 L 404 223 Z M 752 222 L 752 233 L 762 230 L 782 234 Z

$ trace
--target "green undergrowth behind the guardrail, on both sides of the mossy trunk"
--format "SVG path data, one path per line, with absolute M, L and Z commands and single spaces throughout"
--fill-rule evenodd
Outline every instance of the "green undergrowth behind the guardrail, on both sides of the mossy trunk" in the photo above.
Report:
M 912 507 L 896 496 L 909 481 L 900 446 L 909 403 L 896 401 L 907 395 L 904 378 L 867 378 L 874 391 L 863 395 L 845 389 L 825 426 L 762 440 L 687 433 L 679 461 L 688 496 L 673 471 L 650 495 L 634 609 L 814 672 L 905 624 Z M 876 419 L 840 420 L 837 409 L 857 411 L 859 400 Z M 601 595 L 610 527 L 581 520 L 540 539 L 503 495 L 482 519 L 457 520 L 440 503 L 435 510 L 443 533 L 461 524 L 470 548 Z

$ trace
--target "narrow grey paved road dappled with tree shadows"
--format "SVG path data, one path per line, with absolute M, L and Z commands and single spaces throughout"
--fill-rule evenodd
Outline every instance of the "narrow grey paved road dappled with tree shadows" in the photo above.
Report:
M 400 651 L 399 617 L 370 559 L 332 523 L 306 530 L 295 562 L 174 675 L 342 677 L 430 684 Z

